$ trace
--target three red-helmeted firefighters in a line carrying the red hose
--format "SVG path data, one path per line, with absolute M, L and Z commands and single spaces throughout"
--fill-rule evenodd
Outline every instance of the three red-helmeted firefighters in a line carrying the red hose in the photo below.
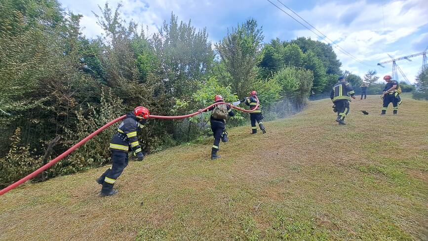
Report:
M 251 134 L 257 133 L 256 122 L 259 124 L 263 134 L 266 133 L 265 126 L 263 125 L 263 116 L 256 98 L 257 92 L 251 91 L 249 96 L 237 104 L 244 102 L 249 106 L 250 120 L 251 120 Z M 223 96 L 216 95 L 214 103 L 224 102 Z M 220 158 L 217 152 L 220 149 L 220 140 L 228 142 L 228 132 L 226 131 L 226 119 L 228 116 L 233 117 L 233 112 L 230 104 L 218 104 L 209 108 L 211 111 L 210 124 L 214 136 L 214 144 L 211 148 L 211 160 Z M 201 113 L 202 111 L 199 110 Z M 149 119 L 150 112 L 145 107 L 137 107 L 134 111 L 126 114 L 126 118 L 119 124 L 116 134 L 113 135 L 110 141 L 110 151 L 112 153 L 112 166 L 107 169 L 98 179 L 97 183 L 102 185 L 100 196 L 113 196 L 117 194 L 117 190 L 113 189 L 116 179 L 120 176 L 123 169 L 128 165 L 128 152 L 132 151 L 138 158 L 138 161 L 144 159 L 140 143 L 137 138 L 137 131 L 140 130 Z

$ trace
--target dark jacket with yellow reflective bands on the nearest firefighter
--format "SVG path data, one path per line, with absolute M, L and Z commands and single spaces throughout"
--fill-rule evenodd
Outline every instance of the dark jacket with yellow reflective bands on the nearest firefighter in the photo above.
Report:
M 137 130 L 140 130 L 141 127 L 143 125 L 138 122 L 134 113 L 127 113 L 125 120 L 119 124 L 116 134 L 113 135 L 110 141 L 110 150 L 126 153 L 132 150 L 135 154 L 141 152 L 140 143 L 138 143 L 137 138 Z

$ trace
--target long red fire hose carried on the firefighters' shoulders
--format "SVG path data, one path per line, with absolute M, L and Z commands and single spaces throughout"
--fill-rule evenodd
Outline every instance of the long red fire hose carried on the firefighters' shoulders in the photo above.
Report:
M 210 108 L 216 106 L 216 105 L 221 105 L 221 104 L 226 104 L 229 105 L 231 108 L 236 109 L 238 111 L 242 111 L 242 112 L 246 112 L 246 113 L 251 113 L 255 110 L 257 110 L 257 108 L 259 107 L 259 99 L 257 98 L 257 96 L 254 96 L 257 99 L 257 105 L 253 110 L 245 110 L 236 106 L 231 105 L 230 103 L 226 103 L 226 102 L 217 102 L 214 103 L 208 107 L 205 107 L 204 109 L 200 109 L 195 113 L 189 114 L 189 115 L 184 115 L 184 116 L 155 116 L 155 115 L 150 115 L 149 118 L 153 118 L 153 119 L 185 119 L 185 118 L 189 118 L 189 117 L 193 117 L 196 115 L 201 114 L 202 112 L 205 112 L 207 110 L 209 110 Z M 58 157 L 56 157 L 55 159 L 47 162 L 46 164 L 44 164 L 43 166 L 41 166 L 39 169 L 35 170 L 34 172 L 30 173 L 29 175 L 21 178 L 20 180 L 10 184 L 9 186 L 5 187 L 4 189 L 0 190 L 0 196 L 9 192 L 10 190 L 18 187 L 19 185 L 25 183 L 26 181 L 33 179 L 35 177 L 37 177 L 41 172 L 45 171 L 47 168 L 51 167 L 52 165 L 54 165 L 55 163 L 57 163 L 58 161 L 61 161 L 63 158 L 67 157 L 70 153 L 74 152 L 76 149 L 78 149 L 80 146 L 82 146 L 83 144 L 85 144 L 88 140 L 92 139 L 94 136 L 96 136 L 97 134 L 99 134 L 101 131 L 107 129 L 109 126 L 111 126 L 112 124 L 116 123 L 117 121 L 121 121 L 123 119 L 125 119 L 126 115 L 123 115 L 113 121 L 108 122 L 107 124 L 103 125 L 101 128 L 97 129 L 96 131 L 94 131 L 92 134 L 88 135 L 87 137 L 85 137 L 84 139 L 82 139 L 81 141 L 79 141 L 77 144 L 75 144 L 74 146 L 72 146 L 70 149 L 68 149 L 67 151 L 65 151 L 63 154 L 59 155 Z

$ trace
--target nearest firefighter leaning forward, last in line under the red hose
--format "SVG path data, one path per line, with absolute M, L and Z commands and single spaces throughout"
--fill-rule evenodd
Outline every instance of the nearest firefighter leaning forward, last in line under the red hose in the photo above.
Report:
M 137 130 L 141 129 L 149 118 L 149 110 L 145 107 L 137 107 L 126 114 L 126 118 L 119 124 L 117 132 L 110 141 L 113 165 L 107 169 L 97 182 L 103 185 L 100 196 L 112 196 L 117 194 L 113 189 L 116 179 L 128 165 L 128 151 L 132 150 L 138 161 L 144 159 L 140 143 L 138 143 Z

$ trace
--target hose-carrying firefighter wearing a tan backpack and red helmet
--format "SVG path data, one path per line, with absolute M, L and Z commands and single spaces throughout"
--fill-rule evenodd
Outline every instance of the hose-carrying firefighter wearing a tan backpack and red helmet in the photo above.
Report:
M 217 103 L 217 102 L 223 102 L 223 96 L 216 95 L 214 98 L 214 103 Z M 215 108 L 216 108 L 215 106 L 211 107 L 210 109 L 208 109 L 208 111 L 214 111 Z M 227 109 L 229 116 L 233 117 L 235 115 L 235 113 L 233 112 L 232 108 L 229 105 L 226 105 L 225 108 Z M 222 140 L 223 142 L 227 142 L 229 139 L 228 139 L 228 134 L 226 132 L 225 119 L 216 119 L 213 117 L 213 114 L 211 114 L 209 121 L 211 124 L 211 130 L 214 136 L 214 144 L 211 148 L 211 160 L 214 160 L 221 157 L 217 155 L 217 152 L 220 149 L 220 140 Z

